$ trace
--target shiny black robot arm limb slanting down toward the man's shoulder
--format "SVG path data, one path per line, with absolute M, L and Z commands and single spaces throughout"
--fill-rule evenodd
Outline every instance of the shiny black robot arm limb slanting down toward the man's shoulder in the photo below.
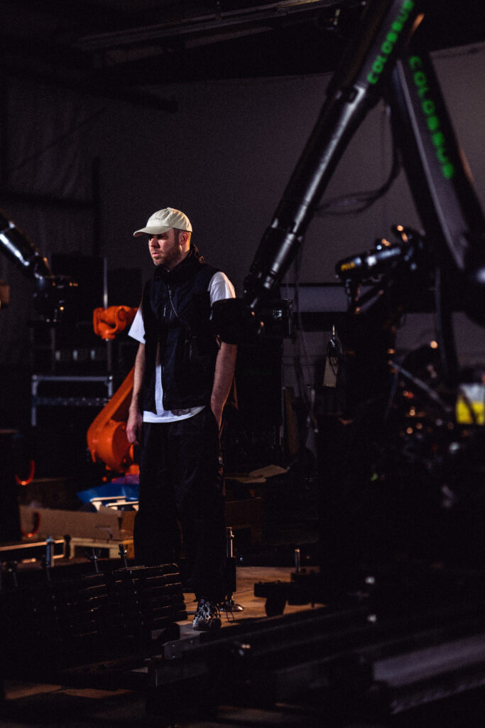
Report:
M 337 162 L 420 18 L 414 0 L 375 0 L 337 69 L 316 126 L 262 237 L 244 282 L 244 302 L 257 311 L 296 255 Z

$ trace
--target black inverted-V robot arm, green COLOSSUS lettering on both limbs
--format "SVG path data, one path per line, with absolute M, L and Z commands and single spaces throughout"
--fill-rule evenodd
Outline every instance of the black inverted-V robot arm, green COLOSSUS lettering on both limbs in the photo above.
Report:
M 403 53 L 425 4 L 369 3 L 244 281 L 244 305 L 250 311 L 260 311 L 289 268 L 350 138 L 382 96 L 393 109 L 393 131 L 439 273 L 446 282 L 460 274 L 465 312 L 485 325 L 483 213 L 428 55 L 420 46 Z

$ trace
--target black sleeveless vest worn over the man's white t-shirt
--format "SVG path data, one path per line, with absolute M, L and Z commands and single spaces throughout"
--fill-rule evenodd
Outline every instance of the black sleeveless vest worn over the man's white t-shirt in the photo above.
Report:
M 156 350 L 160 344 L 161 385 L 166 410 L 208 405 L 217 344 L 209 326 L 209 282 L 217 269 L 191 246 L 172 271 L 157 268 L 142 299 L 145 373 L 141 405 L 155 412 Z

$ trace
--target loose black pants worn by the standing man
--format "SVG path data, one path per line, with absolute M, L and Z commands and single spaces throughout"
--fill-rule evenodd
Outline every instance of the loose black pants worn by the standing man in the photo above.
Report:
M 135 559 L 145 566 L 185 555 L 196 598 L 225 596 L 223 468 L 209 407 L 188 419 L 143 424 Z

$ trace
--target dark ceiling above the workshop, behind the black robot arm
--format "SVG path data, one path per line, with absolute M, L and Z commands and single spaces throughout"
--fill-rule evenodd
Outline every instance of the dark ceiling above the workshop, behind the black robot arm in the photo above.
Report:
M 365 0 L 0 0 L 1 63 L 151 106 L 148 87 L 331 71 Z M 483 0 L 430 1 L 431 50 L 485 40 Z

